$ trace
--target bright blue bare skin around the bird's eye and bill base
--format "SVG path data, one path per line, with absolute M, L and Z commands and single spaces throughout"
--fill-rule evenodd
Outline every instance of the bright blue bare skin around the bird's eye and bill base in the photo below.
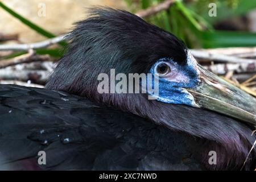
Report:
M 189 56 L 188 56 L 189 57 Z M 159 93 L 158 96 L 154 93 L 149 93 L 151 96 L 155 96 L 156 100 L 167 104 L 184 104 L 189 106 L 196 106 L 193 96 L 187 92 L 184 88 L 195 88 L 200 82 L 199 73 L 197 73 L 195 67 L 191 63 L 192 60 L 188 58 L 187 64 L 179 65 L 172 59 L 163 58 L 158 60 L 150 69 L 151 74 L 155 74 L 155 67 L 160 62 L 169 62 L 173 65 L 173 68 L 177 72 L 188 78 L 186 82 L 175 82 L 167 80 L 165 77 L 159 76 Z M 189 62 L 190 61 L 190 62 Z M 172 69 L 172 68 L 171 68 Z

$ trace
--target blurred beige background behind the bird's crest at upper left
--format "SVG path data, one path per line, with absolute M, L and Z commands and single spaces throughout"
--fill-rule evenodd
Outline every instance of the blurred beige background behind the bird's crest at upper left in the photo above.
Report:
M 85 18 L 85 7 L 105 5 L 126 9 L 125 2 L 121 0 L 2 0 L 2 2 L 56 35 L 71 30 L 73 22 Z M 46 7 L 46 16 L 40 14 L 42 5 Z M 0 33 L 19 34 L 19 40 L 24 43 L 45 39 L 3 9 L 0 9 L 0 25 Z

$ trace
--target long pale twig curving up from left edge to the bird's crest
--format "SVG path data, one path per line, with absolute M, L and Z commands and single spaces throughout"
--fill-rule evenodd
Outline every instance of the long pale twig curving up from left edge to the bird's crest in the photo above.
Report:
M 56 38 L 47 39 L 38 43 L 31 44 L 15 44 L 15 45 L 0 45 L 0 51 L 28 51 L 29 49 L 38 49 L 51 46 L 65 39 L 68 34 L 56 36 Z

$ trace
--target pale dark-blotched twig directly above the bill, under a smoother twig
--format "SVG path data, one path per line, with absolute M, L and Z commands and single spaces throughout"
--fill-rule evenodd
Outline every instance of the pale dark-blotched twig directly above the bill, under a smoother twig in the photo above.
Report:
M 212 65 L 204 65 L 204 67 L 217 75 L 224 75 L 230 71 L 233 71 L 236 73 L 256 72 L 256 63 L 212 64 Z

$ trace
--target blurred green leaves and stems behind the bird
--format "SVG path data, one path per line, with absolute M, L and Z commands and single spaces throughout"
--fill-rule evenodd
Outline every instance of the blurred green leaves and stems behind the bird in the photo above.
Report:
M 124 1 L 127 10 L 136 13 L 157 5 L 164 0 L 119 0 Z M 209 4 L 216 3 L 217 16 L 209 16 Z M 10 9 L 0 1 L 0 7 L 26 26 L 37 31 L 47 38 L 55 35 L 45 30 L 43 24 L 37 25 L 29 19 Z M 247 30 L 225 30 L 225 21 L 231 17 L 242 17 L 256 8 L 256 1 L 252 0 L 176 0 L 169 9 L 161 11 L 146 18 L 147 22 L 155 24 L 166 31 L 172 32 L 182 39 L 189 48 L 216 48 L 216 47 L 248 47 L 256 46 L 256 33 Z M 224 21 L 220 25 L 220 22 Z M 256 20 L 255 20 L 256 21 Z M 236 29 L 236 28 L 234 28 Z M 243 28 L 242 28 L 243 29 Z M 65 43 L 61 42 L 61 46 Z M 60 56 L 60 49 L 39 49 L 38 53 L 48 53 L 52 56 Z M 22 54 L 20 52 L 18 54 Z M 16 56 L 11 55 L 11 56 Z M 9 56 L 10 57 L 10 56 Z

